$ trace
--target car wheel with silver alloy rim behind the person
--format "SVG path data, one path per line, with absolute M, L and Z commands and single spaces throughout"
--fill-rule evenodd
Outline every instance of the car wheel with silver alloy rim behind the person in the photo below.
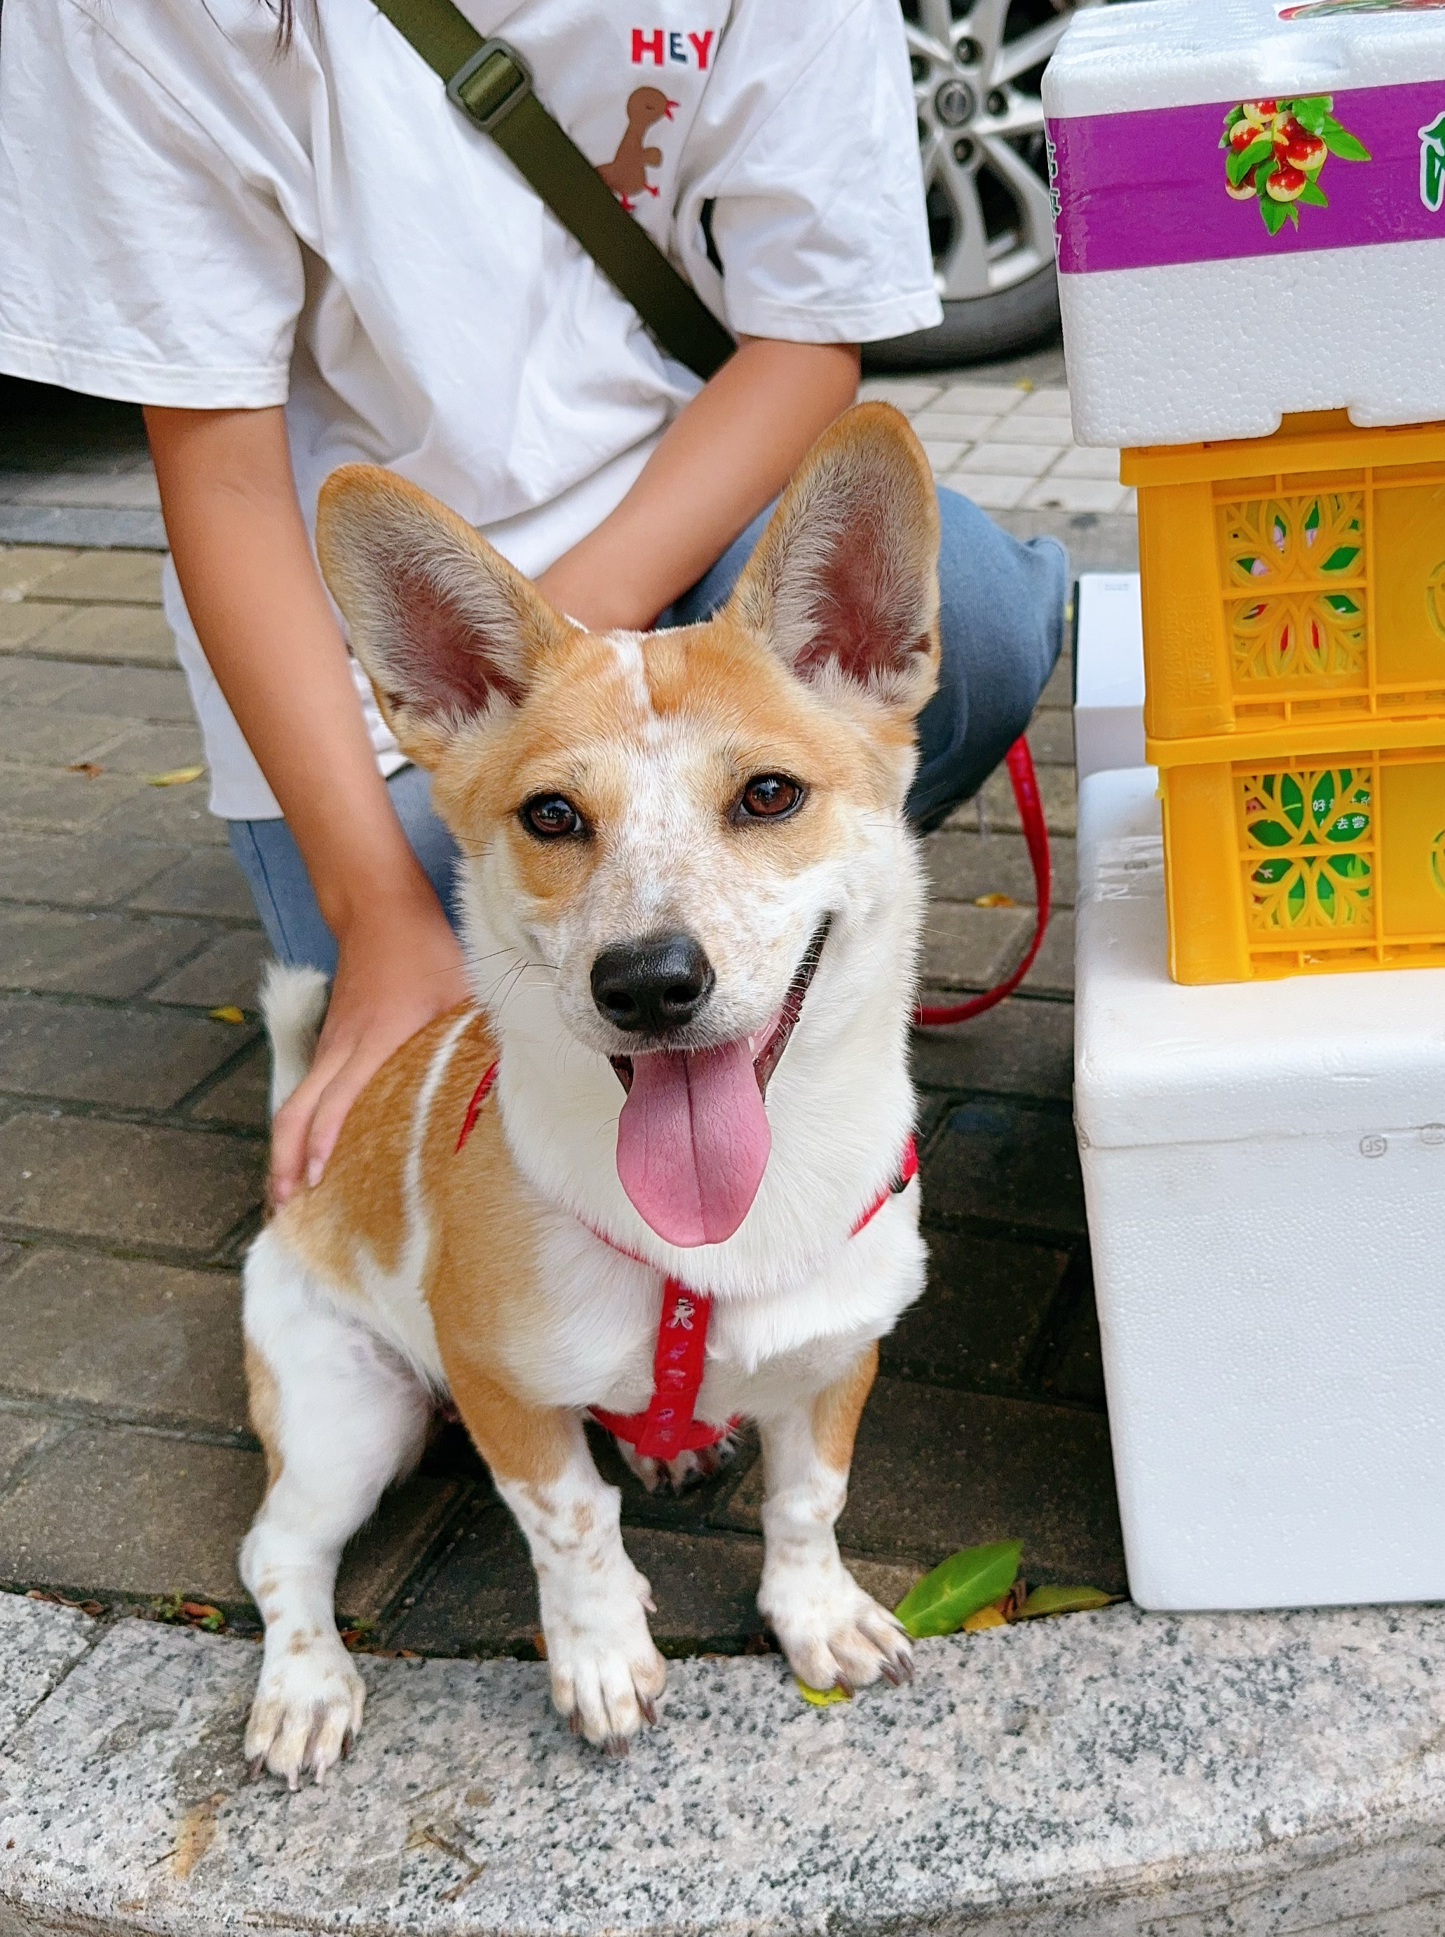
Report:
M 1100 0 L 903 0 L 943 322 L 864 345 L 864 368 L 976 362 L 1058 327 L 1040 87 L 1075 4 Z

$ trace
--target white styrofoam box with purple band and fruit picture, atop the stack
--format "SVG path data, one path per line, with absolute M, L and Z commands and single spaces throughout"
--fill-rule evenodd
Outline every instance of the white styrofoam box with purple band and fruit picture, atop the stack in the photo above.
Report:
M 1267 231 L 1224 112 L 1329 97 L 1369 151 Z M 1337 0 L 1085 8 L 1044 76 L 1079 444 L 1257 438 L 1282 413 L 1445 418 L 1445 12 Z

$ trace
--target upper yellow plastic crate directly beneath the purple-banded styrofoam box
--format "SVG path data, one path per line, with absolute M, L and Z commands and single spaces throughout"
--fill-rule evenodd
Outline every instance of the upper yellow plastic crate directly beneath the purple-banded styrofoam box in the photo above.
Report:
M 1122 475 L 1149 740 L 1205 759 L 1220 736 L 1267 752 L 1280 728 L 1335 744 L 1356 724 L 1368 746 L 1445 724 L 1445 424 L 1286 416 L 1273 438 L 1125 451 Z

